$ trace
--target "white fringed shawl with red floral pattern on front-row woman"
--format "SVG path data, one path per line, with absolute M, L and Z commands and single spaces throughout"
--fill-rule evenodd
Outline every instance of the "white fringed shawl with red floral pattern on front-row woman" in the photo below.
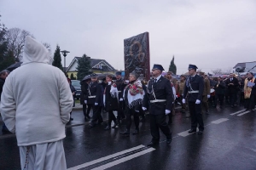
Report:
M 132 108 L 135 105 L 142 105 L 143 104 L 143 84 L 140 81 L 132 81 L 125 87 L 125 90 L 128 88 L 128 107 Z M 125 99 L 125 90 L 123 97 Z

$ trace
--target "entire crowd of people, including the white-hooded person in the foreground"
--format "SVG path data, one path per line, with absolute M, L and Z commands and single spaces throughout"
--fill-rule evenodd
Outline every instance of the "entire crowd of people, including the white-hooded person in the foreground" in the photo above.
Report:
M 253 111 L 256 85 L 252 72 L 238 78 L 230 74 L 224 79 L 197 72 L 196 65 L 189 65 L 188 70 L 189 77 L 182 75 L 177 80 L 172 72 L 163 77 L 162 65 L 154 65 L 147 83 L 139 80 L 135 72 L 130 73 L 129 80 L 122 79 L 121 72 L 117 72 L 115 77 L 107 75 L 102 82 L 93 73 L 81 83 L 84 121 L 90 121 L 90 128 L 95 127 L 103 122 L 102 111 L 106 111 L 105 130 L 120 127 L 125 120 L 125 129 L 119 133 L 130 136 L 132 117 L 132 133 L 137 134 L 148 111 L 152 136 L 148 146 L 154 146 L 160 142 L 160 130 L 166 135 L 166 144 L 171 144 L 168 124 L 172 123 L 176 105 L 182 106 L 181 112 L 189 113 L 189 133 L 195 133 L 198 127 L 198 134 L 204 132 L 202 110 L 209 114 L 210 106 L 223 109 L 243 104 L 247 111 Z M 16 133 L 21 168 L 67 169 L 62 139 L 66 136 L 65 125 L 73 121 L 75 88 L 60 69 L 49 65 L 48 50 L 40 42 L 26 37 L 23 64 L 10 74 L 0 72 L 0 94 L 3 132 Z M 117 111 L 117 116 L 113 111 Z

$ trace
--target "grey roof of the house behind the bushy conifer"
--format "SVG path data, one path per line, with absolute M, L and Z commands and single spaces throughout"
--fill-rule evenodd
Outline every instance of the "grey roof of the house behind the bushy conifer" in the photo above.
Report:
M 67 67 L 67 71 L 73 65 L 75 61 L 78 61 L 81 57 L 74 57 L 70 65 Z M 108 63 L 105 59 L 91 59 L 90 58 L 90 66 L 92 69 L 99 69 L 103 71 L 116 71 L 112 65 Z

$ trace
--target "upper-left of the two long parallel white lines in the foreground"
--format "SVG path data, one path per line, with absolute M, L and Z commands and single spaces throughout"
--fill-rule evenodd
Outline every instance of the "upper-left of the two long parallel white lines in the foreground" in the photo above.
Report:
M 131 149 L 129 149 L 129 150 L 123 150 L 123 151 L 117 152 L 117 153 L 115 153 L 115 154 L 112 154 L 112 155 L 109 155 L 109 156 L 105 156 L 105 157 L 96 159 L 96 160 L 94 160 L 94 161 L 86 162 L 86 163 L 81 164 L 81 165 L 78 165 L 78 166 L 76 166 L 76 167 L 70 167 L 70 168 L 68 168 L 67 170 L 77 170 L 77 169 L 80 169 L 80 168 L 83 168 L 83 167 L 88 167 L 88 166 L 93 165 L 93 164 L 96 164 L 96 163 L 98 163 L 98 162 L 105 161 L 105 160 L 108 160 L 108 159 L 113 158 L 113 157 L 115 157 L 115 156 L 120 156 L 120 155 L 123 155 L 123 154 L 125 154 L 125 153 L 131 152 L 131 151 L 133 151 L 133 150 L 141 149 L 141 148 L 143 148 L 143 147 L 145 147 L 145 146 L 144 146 L 143 144 L 141 144 L 141 145 L 138 145 L 138 146 L 136 146 L 136 147 L 133 147 L 133 148 L 131 148 Z

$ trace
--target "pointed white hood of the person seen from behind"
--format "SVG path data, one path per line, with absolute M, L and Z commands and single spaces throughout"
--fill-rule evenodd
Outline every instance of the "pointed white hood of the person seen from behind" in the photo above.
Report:
M 22 61 L 22 65 L 32 62 L 49 64 L 49 51 L 42 43 L 26 36 Z

